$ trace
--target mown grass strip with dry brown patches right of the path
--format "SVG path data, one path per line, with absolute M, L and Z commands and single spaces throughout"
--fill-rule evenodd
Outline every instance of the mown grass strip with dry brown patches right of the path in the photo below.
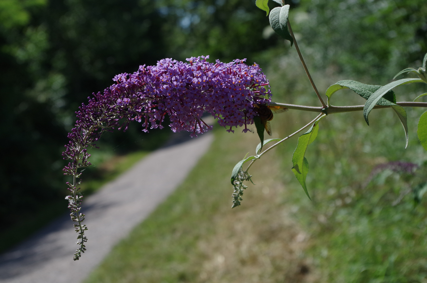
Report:
M 243 206 L 231 209 L 231 168 L 255 134 L 215 130 L 211 149 L 181 186 L 121 241 L 85 281 L 299 282 L 306 235 L 279 196 L 275 159 L 254 166 Z M 274 153 L 273 153 L 274 156 Z M 302 273 L 301 273 L 302 270 Z

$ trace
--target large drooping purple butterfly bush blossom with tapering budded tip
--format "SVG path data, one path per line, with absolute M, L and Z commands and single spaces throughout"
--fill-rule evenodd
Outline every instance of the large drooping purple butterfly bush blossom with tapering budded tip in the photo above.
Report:
M 189 131 L 195 137 L 212 128 L 202 120 L 204 112 L 211 113 L 228 132 L 243 125 L 243 132 L 247 132 L 246 126 L 257 115 L 254 103 L 271 100 L 265 87 L 268 80 L 257 64 L 248 66 L 246 59 L 230 63 L 216 60 L 213 64 L 206 61 L 208 58 L 192 57 L 188 63 L 163 59 L 155 66 L 141 65 L 133 74 L 115 76 L 113 85 L 88 97 L 87 105 L 79 107 L 76 125 L 68 134 L 70 141 L 62 154 L 64 159 L 71 159 L 63 171 L 73 177 L 73 183 L 67 183 L 71 195 L 66 199 L 79 233 L 74 260 L 86 250 L 84 231 L 88 229 L 82 224 L 85 215 L 80 213 L 79 168 L 91 165 L 87 148 L 95 146 L 102 133 L 115 128 L 126 131 L 130 121 L 142 123 L 144 132 L 162 129 L 161 123 L 169 115 L 173 132 Z

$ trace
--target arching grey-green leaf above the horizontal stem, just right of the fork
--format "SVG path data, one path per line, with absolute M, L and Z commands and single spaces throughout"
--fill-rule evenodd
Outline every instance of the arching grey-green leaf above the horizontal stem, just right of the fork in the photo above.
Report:
M 343 88 L 349 88 L 367 100 L 375 91 L 381 88 L 381 85 L 367 85 L 354 80 L 341 80 L 338 83 L 331 85 L 326 90 L 328 105 L 330 105 L 330 97 L 332 94 Z M 396 103 L 395 93 L 393 91 L 389 91 L 384 95 L 384 97 L 378 100 L 377 105 L 393 105 L 394 103 Z

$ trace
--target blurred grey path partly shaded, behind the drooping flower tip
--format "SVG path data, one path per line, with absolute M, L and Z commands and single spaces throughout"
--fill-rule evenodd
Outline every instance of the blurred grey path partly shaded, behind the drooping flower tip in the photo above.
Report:
M 88 197 L 82 208 L 88 251 L 73 261 L 77 234 L 64 215 L 12 251 L 0 255 L 0 282 L 79 283 L 184 180 L 213 135 L 156 150 Z

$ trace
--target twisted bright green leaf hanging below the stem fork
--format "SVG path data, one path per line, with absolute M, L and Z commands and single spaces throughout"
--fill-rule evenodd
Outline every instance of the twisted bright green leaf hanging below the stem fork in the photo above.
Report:
M 314 122 L 314 124 L 310 127 L 307 133 L 304 133 L 298 138 L 298 145 L 296 146 L 295 151 L 292 155 L 292 172 L 295 174 L 295 177 L 301 184 L 308 198 L 310 198 L 310 195 L 308 194 L 307 185 L 305 183 L 305 179 L 307 177 L 308 172 L 308 161 L 304 155 L 308 145 L 316 139 L 317 132 L 319 131 L 319 120 L 323 117 L 325 116 L 322 116 L 316 122 Z

